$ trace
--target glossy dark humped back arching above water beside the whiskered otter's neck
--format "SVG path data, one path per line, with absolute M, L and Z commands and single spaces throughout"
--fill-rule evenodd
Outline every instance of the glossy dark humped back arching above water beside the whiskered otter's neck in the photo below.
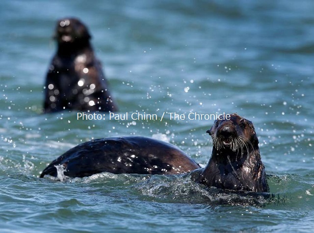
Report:
M 68 177 L 96 173 L 182 174 L 200 166 L 183 151 L 166 142 L 147 137 L 111 137 L 82 143 L 49 164 L 40 177 L 57 176 L 55 166 Z

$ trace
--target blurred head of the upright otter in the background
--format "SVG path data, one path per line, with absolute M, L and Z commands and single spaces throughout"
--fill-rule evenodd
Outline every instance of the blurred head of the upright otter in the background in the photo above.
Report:
M 91 38 L 88 29 L 76 18 L 65 18 L 57 22 L 54 38 L 58 43 L 73 43 Z

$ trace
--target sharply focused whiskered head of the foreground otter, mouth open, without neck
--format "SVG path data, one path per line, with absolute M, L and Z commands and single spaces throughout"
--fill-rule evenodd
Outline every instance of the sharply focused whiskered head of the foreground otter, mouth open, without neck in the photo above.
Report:
M 251 121 L 235 113 L 230 116 L 230 120 L 216 120 L 214 125 L 206 131 L 211 136 L 216 149 L 230 149 L 235 152 L 244 147 L 247 148 L 249 144 L 253 146 L 255 141 L 258 142 Z

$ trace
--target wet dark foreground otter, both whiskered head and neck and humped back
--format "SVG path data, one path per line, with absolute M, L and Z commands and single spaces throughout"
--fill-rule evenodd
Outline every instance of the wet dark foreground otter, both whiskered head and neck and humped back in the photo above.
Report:
M 194 181 L 209 187 L 238 191 L 268 192 L 259 141 L 252 122 L 231 114 L 216 120 L 207 132 L 213 149 L 205 168 L 175 146 L 145 137 L 116 137 L 82 143 L 64 153 L 44 169 L 40 177 L 64 175 L 84 177 L 95 173 L 181 174 L 191 172 Z

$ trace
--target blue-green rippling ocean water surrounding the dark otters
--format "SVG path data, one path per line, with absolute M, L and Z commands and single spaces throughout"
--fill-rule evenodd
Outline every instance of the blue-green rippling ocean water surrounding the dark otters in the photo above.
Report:
M 1 232 L 312 232 L 313 12 L 312 0 L 2 1 Z M 89 27 L 119 114 L 158 120 L 41 113 L 55 22 L 67 16 Z M 191 112 L 254 123 L 272 198 L 188 176 L 39 178 L 79 143 L 120 135 L 170 141 L 205 165 L 213 120 Z

